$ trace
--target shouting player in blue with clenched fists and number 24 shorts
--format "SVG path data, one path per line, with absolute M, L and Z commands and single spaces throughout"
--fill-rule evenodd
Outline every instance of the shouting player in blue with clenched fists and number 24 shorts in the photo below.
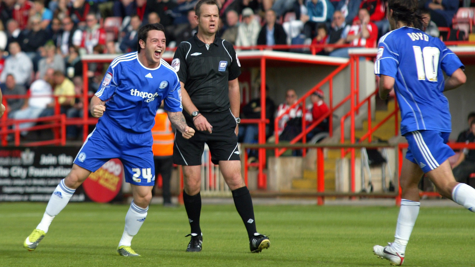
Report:
M 66 207 L 76 188 L 91 172 L 113 158 L 122 161 L 125 181 L 131 183 L 133 201 L 117 248 L 122 256 L 140 256 L 131 248 L 147 217 L 155 183 L 152 153 L 152 126 L 155 113 L 164 100 L 171 123 L 184 139 L 193 136 L 181 106 L 180 81 L 173 68 L 161 57 L 165 33 L 161 24 L 147 24 L 138 31 L 138 52 L 112 61 L 102 86 L 91 99 L 91 114 L 99 121 L 76 156 L 71 172 L 61 180 L 48 202 L 43 219 L 26 238 L 23 246 L 34 250 L 55 216 Z

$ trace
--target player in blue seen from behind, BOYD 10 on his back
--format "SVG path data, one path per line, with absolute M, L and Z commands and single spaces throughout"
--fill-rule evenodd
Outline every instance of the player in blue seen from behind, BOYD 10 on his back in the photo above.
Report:
M 375 73 L 380 76 L 381 99 L 387 99 L 394 88 L 401 109 L 401 134 L 409 148 L 400 174 L 402 200 L 394 242 L 374 246 L 373 252 L 393 265 L 402 265 L 419 213 L 422 175 L 428 176 L 442 196 L 472 212 L 475 189 L 455 181 L 448 162 L 454 152 L 446 144 L 451 118 L 443 92 L 466 82 L 464 65 L 440 39 L 417 29 L 423 19 L 416 12 L 417 0 L 389 0 L 388 4 L 394 30 L 380 38 Z

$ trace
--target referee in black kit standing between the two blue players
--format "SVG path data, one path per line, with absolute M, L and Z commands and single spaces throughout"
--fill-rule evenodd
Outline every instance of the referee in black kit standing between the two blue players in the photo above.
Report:
M 180 43 L 172 61 L 172 67 L 180 78 L 185 119 L 197 130 L 189 140 L 177 134 L 173 147 L 173 161 L 183 165 L 183 200 L 191 227 L 188 235 L 191 240 L 186 251 L 201 251 L 203 241 L 199 227 L 199 190 L 201 155 L 207 143 L 211 161 L 219 164 L 232 191 L 237 212 L 247 229 L 251 252 L 260 252 L 270 246 L 270 241 L 257 233 L 252 199 L 241 176 L 237 150 L 237 125 L 240 122 L 237 76 L 241 74 L 241 66 L 233 46 L 216 36 L 219 24 L 217 3 L 199 0 L 195 9 L 198 32 Z

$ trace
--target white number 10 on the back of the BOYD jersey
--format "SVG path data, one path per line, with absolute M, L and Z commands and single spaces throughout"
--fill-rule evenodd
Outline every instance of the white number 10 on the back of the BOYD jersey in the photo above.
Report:
M 418 80 L 425 80 L 427 77 L 429 81 L 437 82 L 439 49 L 425 47 L 421 50 L 419 46 L 413 46 L 412 48 L 414 48 L 414 56 L 416 57 Z

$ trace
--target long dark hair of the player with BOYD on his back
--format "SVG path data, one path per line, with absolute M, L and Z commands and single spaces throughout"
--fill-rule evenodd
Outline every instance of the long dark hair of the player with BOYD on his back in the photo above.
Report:
M 424 16 L 418 12 L 417 0 L 389 0 L 388 9 L 392 10 L 392 18 L 406 23 L 408 26 L 422 29 Z

